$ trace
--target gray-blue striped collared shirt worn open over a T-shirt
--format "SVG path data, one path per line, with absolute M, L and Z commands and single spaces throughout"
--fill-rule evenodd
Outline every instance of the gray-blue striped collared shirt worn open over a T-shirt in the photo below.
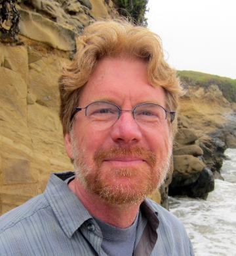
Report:
M 0 217 L 1 256 L 106 255 L 100 227 L 65 182 L 73 176 L 52 174 L 43 194 Z M 149 199 L 140 213 L 133 255 L 193 255 L 176 217 Z

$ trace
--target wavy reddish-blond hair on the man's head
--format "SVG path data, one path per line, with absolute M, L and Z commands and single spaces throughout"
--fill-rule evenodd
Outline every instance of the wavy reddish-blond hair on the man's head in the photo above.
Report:
M 134 26 L 125 20 L 96 21 L 77 38 L 77 53 L 59 80 L 60 120 L 64 135 L 71 130 L 71 115 L 79 102 L 81 89 L 88 82 L 96 64 L 104 57 L 139 58 L 147 62 L 148 81 L 162 86 L 167 96 L 167 108 L 176 111 L 178 97 L 183 93 L 176 71 L 165 62 L 161 39 L 146 27 Z M 176 118 L 177 119 L 177 118 Z M 177 120 L 171 124 L 176 133 Z

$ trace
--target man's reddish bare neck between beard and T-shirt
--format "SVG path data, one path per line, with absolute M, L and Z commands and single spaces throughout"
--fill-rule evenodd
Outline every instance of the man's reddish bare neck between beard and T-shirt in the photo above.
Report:
M 141 202 L 126 205 L 108 203 L 98 195 L 85 190 L 76 179 L 69 183 L 69 189 L 77 195 L 92 216 L 119 228 L 127 228 L 134 222 L 141 204 Z

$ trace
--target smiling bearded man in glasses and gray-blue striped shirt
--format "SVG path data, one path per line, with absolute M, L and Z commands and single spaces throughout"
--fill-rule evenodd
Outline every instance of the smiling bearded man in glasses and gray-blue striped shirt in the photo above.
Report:
M 3 255 L 193 255 L 180 222 L 146 196 L 167 175 L 182 89 L 147 28 L 103 21 L 60 78 L 73 172 L 0 220 Z

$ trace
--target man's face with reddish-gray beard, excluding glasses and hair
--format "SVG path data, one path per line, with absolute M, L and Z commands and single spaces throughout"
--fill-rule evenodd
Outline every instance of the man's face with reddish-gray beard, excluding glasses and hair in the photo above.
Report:
M 147 64 L 134 59 L 105 58 L 81 92 L 79 107 L 109 101 L 129 110 L 140 103 L 165 106 L 165 91 L 147 81 Z M 75 115 L 66 148 L 74 159 L 77 180 L 110 203 L 137 203 L 161 185 L 168 171 L 172 141 L 167 120 L 138 124 L 131 111 L 107 127 Z

